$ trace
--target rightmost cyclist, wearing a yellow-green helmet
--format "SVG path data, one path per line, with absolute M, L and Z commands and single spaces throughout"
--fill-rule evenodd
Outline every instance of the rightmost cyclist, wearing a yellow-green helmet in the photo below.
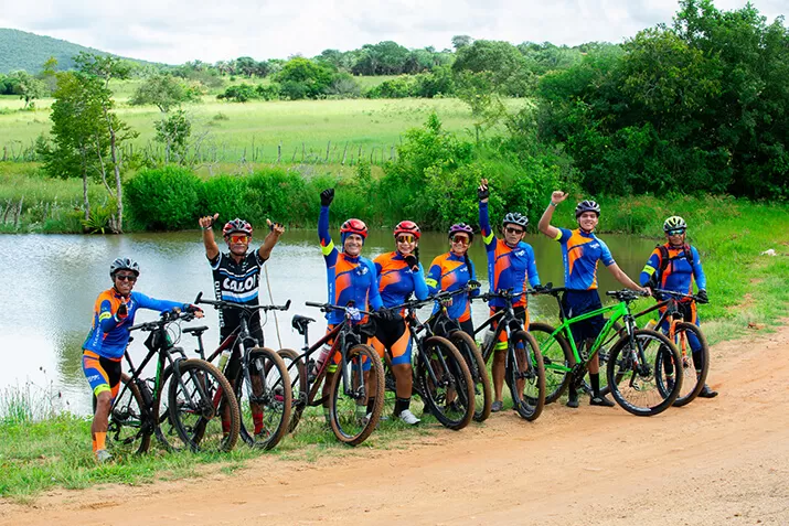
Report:
M 653 289 L 671 290 L 683 294 L 693 293 L 693 282 L 695 281 L 699 288 L 699 293 L 696 294 L 699 302 L 706 303 L 708 301 L 706 291 L 707 280 L 702 269 L 699 250 L 686 243 L 686 232 L 687 224 L 682 217 L 674 215 L 665 219 L 663 223 L 665 243 L 655 247 L 649 256 L 647 265 L 643 267 L 643 270 L 641 270 L 639 280 L 642 286 L 648 286 Z M 701 326 L 695 301 L 682 299 L 680 300 L 679 308 L 684 321 Z M 667 308 L 663 307 L 660 312 L 662 313 L 665 309 Z M 660 329 L 668 333 L 669 320 L 665 320 Z M 693 364 L 696 367 L 696 373 L 700 374 L 704 367 L 701 353 L 702 344 L 694 333 L 687 331 L 685 334 L 687 335 L 687 343 L 690 343 L 693 353 Z M 717 391 L 712 390 L 710 386 L 704 384 L 699 396 L 702 398 L 714 398 L 717 396 Z

